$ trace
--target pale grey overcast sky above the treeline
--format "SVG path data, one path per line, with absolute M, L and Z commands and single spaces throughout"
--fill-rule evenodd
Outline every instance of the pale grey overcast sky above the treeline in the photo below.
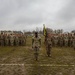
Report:
M 0 30 L 75 29 L 75 0 L 0 0 Z

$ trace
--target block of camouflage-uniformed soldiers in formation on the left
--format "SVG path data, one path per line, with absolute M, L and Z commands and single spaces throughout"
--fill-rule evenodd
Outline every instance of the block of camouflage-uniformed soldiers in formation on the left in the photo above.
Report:
M 0 34 L 0 46 L 24 46 L 26 36 L 24 34 Z

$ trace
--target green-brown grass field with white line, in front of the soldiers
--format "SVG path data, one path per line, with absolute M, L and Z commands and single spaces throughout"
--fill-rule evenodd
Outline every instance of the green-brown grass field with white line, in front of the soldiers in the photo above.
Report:
M 0 47 L 0 75 L 75 75 L 75 51 L 69 47 L 53 47 L 47 57 L 45 45 L 35 61 L 31 38 L 26 46 Z

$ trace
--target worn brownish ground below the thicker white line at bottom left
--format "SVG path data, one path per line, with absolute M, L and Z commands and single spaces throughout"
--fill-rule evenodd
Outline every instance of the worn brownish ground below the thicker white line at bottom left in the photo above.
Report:
M 26 75 L 26 71 L 23 64 L 2 64 L 0 65 L 0 75 Z

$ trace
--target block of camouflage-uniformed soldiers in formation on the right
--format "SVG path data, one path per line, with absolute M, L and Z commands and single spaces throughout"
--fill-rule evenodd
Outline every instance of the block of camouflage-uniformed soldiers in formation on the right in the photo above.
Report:
M 75 47 L 75 34 L 51 34 L 52 46 Z

